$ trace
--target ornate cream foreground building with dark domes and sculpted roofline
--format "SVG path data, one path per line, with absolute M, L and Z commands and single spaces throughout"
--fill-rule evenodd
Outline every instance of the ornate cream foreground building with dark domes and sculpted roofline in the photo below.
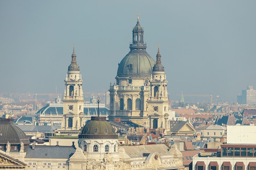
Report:
M 173 145 L 120 146 L 106 117 L 92 117 L 70 146 L 30 144 L 11 119 L 0 119 L 0 168 L 23 170 L 184 170 Z M 74 143 L 79 144 L 75 147 Z

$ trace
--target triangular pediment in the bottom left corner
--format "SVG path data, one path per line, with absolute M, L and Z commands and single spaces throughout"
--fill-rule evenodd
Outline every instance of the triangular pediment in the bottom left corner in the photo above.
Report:
M 0 153 L 0 167 L 3 166 L 6 168 L 25 168 L 26 164 Z

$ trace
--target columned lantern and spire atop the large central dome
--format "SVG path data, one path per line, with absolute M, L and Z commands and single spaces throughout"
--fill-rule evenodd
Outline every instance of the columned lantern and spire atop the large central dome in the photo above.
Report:
M 130 44 L 130 50 L 134 49 L 146 49 L 147 46 L 144 43 L 144 30 L 143 26 L 139 24 L 139 14 L 137 15 L 137 24 L 132 30 L 132 44 Z

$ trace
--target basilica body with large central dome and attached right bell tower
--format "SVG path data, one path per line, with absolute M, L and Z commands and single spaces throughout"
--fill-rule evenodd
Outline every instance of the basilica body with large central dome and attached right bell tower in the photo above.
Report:
M 110 119 L 121 118 L 144 127 L 169 129 L 167 79 L 161 55 L 156 62 L 146 52 L 144 28 L 132 30 L 130 52 L 118 64 L 116 83 L 110 84 Z

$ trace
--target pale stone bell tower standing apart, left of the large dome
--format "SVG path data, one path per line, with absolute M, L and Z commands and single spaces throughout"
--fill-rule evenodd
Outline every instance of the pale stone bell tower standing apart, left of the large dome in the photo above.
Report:
M 71 64 L 68 66 L 67 75 L 64 80 L 65 90 L 63 96 L 63 122 L 61 133 L 69 131 L 78 131 L 84 126 L 83 121 L 83 80 L 81 78 L 80 68 L 76 64 L 75 47 L 71 56 Z M 77 134 L 77 135 L 78 135 Z

